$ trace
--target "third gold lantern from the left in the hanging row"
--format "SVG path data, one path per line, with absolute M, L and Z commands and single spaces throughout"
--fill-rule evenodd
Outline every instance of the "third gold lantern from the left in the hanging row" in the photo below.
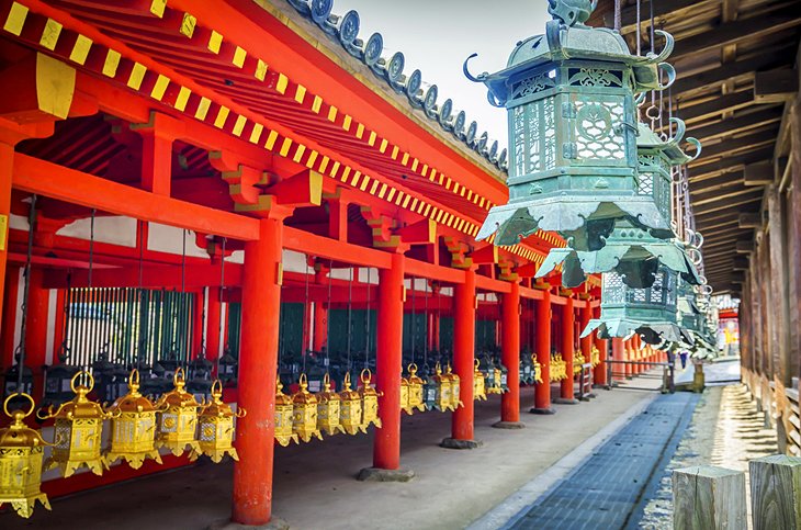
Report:
M 117 398 L 109 408 L 111 416 L 111 447 L 105 453 L 105 469 L 123 459 L 138 470 L 145 459 L 159 464 L 161 456 L 156 449 L 156 407 L 139 394 L 139 371 L 128 376 L 128 393 Z

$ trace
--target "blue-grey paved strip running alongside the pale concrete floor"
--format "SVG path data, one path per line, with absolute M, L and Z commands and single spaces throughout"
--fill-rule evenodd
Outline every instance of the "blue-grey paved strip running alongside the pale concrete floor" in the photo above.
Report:
M 669 461 L 698 398 L 688 393 L 658 397 L 504 528 L 635 528 L 644 495 Z

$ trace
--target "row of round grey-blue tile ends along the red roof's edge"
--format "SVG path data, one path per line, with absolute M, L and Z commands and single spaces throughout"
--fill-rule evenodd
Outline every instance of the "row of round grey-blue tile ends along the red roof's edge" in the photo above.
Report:
M 573 0 L 574 3 L 576 1 L 582 3 L 579 0 Z M 286 0 L 286 2 L 301 15 L 316 24 L 329 37 L 336 40 L 351 56 L 364 63 L 376 77 L 383 79 L 395 92 L 404 93 L 413 108 L 422 110 L 426 117 L 439 123 L 443 131 L 453 134 L 455 138 L 466 144 L 467 147 L 499 170 L 507 171 L 507 150 L 503 149 L 498 154 L 497 149 L 487 149 L 486 144 L 481 145 L 481 140 L 476 142 L 475 129 L 477 129 L 477 124 L 475 126 L 471 124 L 471 129 L 465 132 L 466 116 L 464 116 L 464 111 L 460 111 L 456 117 L 453 119 L 452 100 L 445 100 L 442 105 L 438 105 L 439 89 L 436 84 L 431 84 L 422 93 L 422 75 L 420 70 L 413 71 L 408 77 L 405 76 L 403 70 L 406 66 L 406 58 L 400 52 L 396 52 L 388 60 L 381 56 L 384 48 L 381 33 L 373 33 L 366 43 L 359 38 L 361 21 L 356 10 L 350 10 L 345 15 L 339 16 L 331 14 L 334 0 Z M 595 4 L 595 2 L 593 3 Z M 467 76 L 467 78 L 471 77 Z M 503 106 L 499 100 L 492 97 L 488 97 L 488 101 L 494 106 Z

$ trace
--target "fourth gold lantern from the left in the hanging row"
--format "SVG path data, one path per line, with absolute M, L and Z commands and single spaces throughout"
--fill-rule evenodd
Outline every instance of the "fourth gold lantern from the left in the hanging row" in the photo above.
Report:
M 176 369 L 172 384 L 173 388 L 156 403 L 156 444 L 169 449 L 176 456 L 187 449 L 200 452 L 195 431 L 201 404 L 184 390 L 187 377 L 182 368 Z

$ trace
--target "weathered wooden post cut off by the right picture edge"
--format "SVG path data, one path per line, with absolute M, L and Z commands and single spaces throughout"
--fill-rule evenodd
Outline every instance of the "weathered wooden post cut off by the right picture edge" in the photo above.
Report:
M 754 530 L 801 530 L 801 458 L 765 456 L 748 470 Z

